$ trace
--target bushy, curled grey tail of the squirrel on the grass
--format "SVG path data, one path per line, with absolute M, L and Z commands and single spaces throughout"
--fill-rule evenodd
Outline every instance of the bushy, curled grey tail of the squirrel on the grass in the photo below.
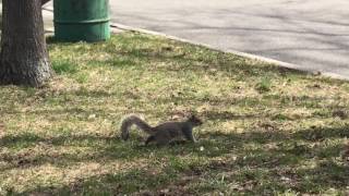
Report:
M 127 140 L 130 136 L 129 130 L 130 127 L 135 124 L 137 125 L 142 131 L 153 134 L 153 127 L 148 125 L 145 121 L 143 121 L 141 118 L 139 118 L 135 114 L 131 114 L 123 119 L 121 123 L 121 138 Z

